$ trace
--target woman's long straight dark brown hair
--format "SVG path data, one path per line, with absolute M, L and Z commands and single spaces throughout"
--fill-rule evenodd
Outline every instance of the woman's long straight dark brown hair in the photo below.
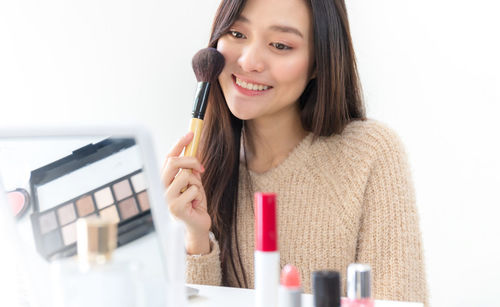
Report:
M 315 78 L 299 98 L 300 117 L 303 128 L 315 136 L 340 134 L 350 121 L 365 119 L 347 11 L 343 0 L 307 2 L 312 12 Z M 216 47 L 219 38 L 229 31 L 245 3 L 245 0 L 222 0 L 213 23 L 210 47 Z M 238 285 L 248 287 L 238 239 L 233 238 L 237 236 L 243 121 L 229 110 L 218 82 L 212 86 L 204 126 L 200 158 L 206 171 L 202 181 L 212 232 L 221 250 L 222 284 L 229 285 L 231 269 Z M 238 276 L 238 271 L 242 276 Z

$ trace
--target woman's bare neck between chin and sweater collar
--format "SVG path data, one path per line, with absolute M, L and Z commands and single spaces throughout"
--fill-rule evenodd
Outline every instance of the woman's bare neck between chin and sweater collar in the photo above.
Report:
M 297 106 L 245 123 L 248 168 L 263 173 L 283 162 L 307 135 Z

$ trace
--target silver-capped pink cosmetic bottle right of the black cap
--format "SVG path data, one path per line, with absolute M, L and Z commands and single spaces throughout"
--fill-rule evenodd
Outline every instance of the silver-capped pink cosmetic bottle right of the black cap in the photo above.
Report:
M 371 267 L 367 264 L 352 263 L 347 268 L 347 298 L 343 307 L 373 307 L 371 298 Z

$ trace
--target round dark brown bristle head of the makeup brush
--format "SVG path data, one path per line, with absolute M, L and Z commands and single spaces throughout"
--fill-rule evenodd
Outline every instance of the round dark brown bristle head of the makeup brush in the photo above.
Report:
M 215 48 L 205 48 L 193 57 L 193 70 L 198 82 L 215 82 L 225 65 L 224 56 Z

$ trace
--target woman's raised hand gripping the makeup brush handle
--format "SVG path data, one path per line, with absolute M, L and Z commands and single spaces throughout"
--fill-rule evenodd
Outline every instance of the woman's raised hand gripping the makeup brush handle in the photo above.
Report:
M 195 157 L 181 157 L 182 150 L 193 139 L 193 133 L 183 136 L 167 156 L 162 170 L 165 199 L 170 212 L 186 225 L 188 254 L 210 252 L 208 234 L 211 219 L 207 212 L 207 198 L 201 183 L 205 171 Z M 187 190 L 181 192 L 185 187 Z

